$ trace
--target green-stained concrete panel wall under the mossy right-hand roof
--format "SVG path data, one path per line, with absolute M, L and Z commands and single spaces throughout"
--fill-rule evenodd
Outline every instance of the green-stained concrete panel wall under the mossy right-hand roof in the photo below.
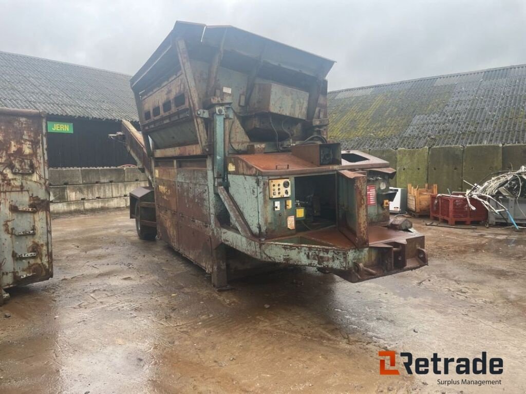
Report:
M 526 165 L 526 144 L 472 145 L 468 147 L 433 147 L 421 149 L 380 149 L 366 152 L 389 161 L 397 170 L 391 186 L 407 188 L 407 184 L 423 187 L 438 184 L 439 193 L 460 191 L 470 183 L 480 182 L 487 175 L 502 170 L 517 170 Z

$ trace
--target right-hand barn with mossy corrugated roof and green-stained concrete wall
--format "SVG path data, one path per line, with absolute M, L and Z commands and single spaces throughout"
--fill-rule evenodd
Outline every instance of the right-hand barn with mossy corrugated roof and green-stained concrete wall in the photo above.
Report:
M 329 137 L 397 168 L 396 184 L 465 190 L 526 164 L 526 65 L 329 92 Z

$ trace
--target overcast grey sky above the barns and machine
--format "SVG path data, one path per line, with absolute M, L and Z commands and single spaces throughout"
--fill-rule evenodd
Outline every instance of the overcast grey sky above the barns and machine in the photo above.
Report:
M 524 0 L 0 0 L 0 50 L 134 74 L 178 19 L 336 60 L 331 90 L 526 63 Z

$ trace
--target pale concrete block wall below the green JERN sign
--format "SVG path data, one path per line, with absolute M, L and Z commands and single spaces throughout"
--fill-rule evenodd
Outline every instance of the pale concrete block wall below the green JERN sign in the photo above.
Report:
M 128 195 L 147 186 L 146 175 L 135 167 L 50 168 L 52 213 L 124 208 Z

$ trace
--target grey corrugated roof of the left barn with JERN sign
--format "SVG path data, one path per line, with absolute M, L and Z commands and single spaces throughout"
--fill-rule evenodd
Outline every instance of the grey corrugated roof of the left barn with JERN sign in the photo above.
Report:
M 0 107 L 138 120 L 131 76 L 0 51 Z

